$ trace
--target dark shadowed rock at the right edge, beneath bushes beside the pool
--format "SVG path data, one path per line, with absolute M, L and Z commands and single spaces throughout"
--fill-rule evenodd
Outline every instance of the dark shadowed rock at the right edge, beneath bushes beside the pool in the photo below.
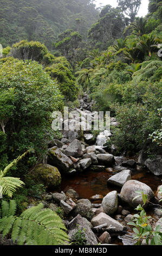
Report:
M 162 157 L 158 156 L 155 159 L 147 159 L 145 161 L 145 166 L 150 170 L 154 175 L 162 175 Z

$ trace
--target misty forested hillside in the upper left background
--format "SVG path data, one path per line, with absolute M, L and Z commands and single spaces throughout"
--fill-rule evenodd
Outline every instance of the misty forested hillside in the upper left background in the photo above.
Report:
M 0 43 L 22 39 L 43 42 L 49 49 L 57 35 L 74 29 L 86 37 L 98 19 L 93 0 L 0 0 Z

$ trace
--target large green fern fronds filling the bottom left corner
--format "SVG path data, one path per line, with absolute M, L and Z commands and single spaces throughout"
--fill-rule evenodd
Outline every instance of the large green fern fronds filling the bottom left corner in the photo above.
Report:
M 14 217 L 15 201 L 2 201 L 0 231 L 18 245 L 64 245 L 69 241 L 66 227 L 56 212 L 43 209 L 43 204 L 25 210 L 20 217 Z M 11 215 L 10 215 L 11 214 Z

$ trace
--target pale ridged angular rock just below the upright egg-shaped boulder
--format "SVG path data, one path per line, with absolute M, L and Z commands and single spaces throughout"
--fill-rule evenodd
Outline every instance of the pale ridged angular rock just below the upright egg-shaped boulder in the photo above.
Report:
M 93 227 L 96 227 L 101 224 L 107 223 L 107 228 L 111 225 L 111 227 L 115 227 L 116 231 L 124 230 L 124 226 L 120 224 L 118 221 L 115 221 L 113 218 L 101 212 L 101 214 L 95 216 L 91 221 Z

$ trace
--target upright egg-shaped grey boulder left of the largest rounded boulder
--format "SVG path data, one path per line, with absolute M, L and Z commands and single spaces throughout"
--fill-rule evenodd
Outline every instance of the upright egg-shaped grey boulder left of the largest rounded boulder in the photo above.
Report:
M 117 191 L 112 191 L 102 200 L 103 210 L 107 215 L 112 215 L 118 209 L 118 194 Z

